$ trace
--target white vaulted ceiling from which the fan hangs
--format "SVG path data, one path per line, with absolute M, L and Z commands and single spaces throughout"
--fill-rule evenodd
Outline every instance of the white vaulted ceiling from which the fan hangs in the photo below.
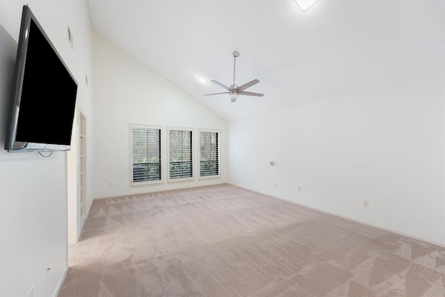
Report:
M 227 120 L 445 65 L 445 0 L 88 0 L 93 28 Z M 197 77 L 264 97 L 229 95 Z

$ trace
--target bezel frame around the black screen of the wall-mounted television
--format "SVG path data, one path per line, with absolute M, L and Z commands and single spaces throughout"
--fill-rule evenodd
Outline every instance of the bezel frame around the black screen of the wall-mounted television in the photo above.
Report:
M 28 32 L 31 26 L 31 20 L 37 26 L 43 37 L 47 40 L 48 44 L 51 46 L 51 49 L 54 51 L 54 53 L 60 60 L 60 63 L 65 67 L 67 74 L 70 75 L 73 83 L 75 83 L 76 85 L 76 92 L 74 95 L 74 109 L 72 111 L 72 120 L 71 120 L 70 145 L 57 144 L 57 143 L 23 142 L 16 140 L 20 104 L 22 101 L 22 87 L 24 82 L 24 70 L 26 66 L 26 54 L 28 51 L 28 43 L 29 43 Z M 27 5 L 23 6 L 22 20 L 20 23 L 19 42 L 17 47 L 17 56 L 15 61 L 13 98 L 10 102 L 10 112 L 8 117 L 8 126 L 6 130 L 6 141 L 4 147 L 5 150 L 7 150 L 8 152 L 59 152 L 59 151 L 71 150 L 72 125 L 74 122 L 75 111 L 76 111 L 75 106 L 76 106 L 77 88 L 78 88 L 78 83 L 74 78 L 74 75 L 72 74 L 72 72 L 70 72 L 70 69 L 63 61 L 63 58 L 58 53 L 56 47 L 54 47 L 47 33 L 44 31 L 44 29 L 38 22 L 38 19 L 36 19 L 35 15 L 32 13 L 29 6 Z

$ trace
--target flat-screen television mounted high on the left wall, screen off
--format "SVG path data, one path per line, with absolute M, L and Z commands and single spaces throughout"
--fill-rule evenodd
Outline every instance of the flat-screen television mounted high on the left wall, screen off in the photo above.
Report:
M 5 150 L 70 150 L 77 82 L 28 6 L 14 76 Z

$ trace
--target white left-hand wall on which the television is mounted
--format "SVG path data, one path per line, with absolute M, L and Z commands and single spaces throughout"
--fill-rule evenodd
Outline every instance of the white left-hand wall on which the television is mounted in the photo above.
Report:
M 78 103 L 87 110 L 84 76 L 90 72 L 91 30 L 86 1 L 0 1 L 0 296 L 29 296 L 33 286 L 35 297 L 48 297 L 56 294 L 67 269 L 67 152 L 44 158 L 3 150 L 24 4 L 76 77 Z M 67 42 L 67 24 L 74 50 Z

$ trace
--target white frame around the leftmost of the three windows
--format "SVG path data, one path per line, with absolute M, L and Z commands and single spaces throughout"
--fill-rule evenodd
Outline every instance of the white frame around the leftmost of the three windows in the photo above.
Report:
M 160 152 L 159 154 L 161 155 L 159 158 L 160 161 L 160 168 L 161 168 L 161 179 L 156 179 L 156 180 L 149 180 L 149 181 L 143 181 L 143 182 L 134 182 L 133 180 L 133 128 L 141 128 L 141 129 L 156 129 L 159 130 L 160 134 L 161 134 L 161 139 L 160 139 Z M 130 150 L 130 159 L 129 159 L 129 182 L 130 182 L 130 186 L 147 186 L 147 185 L 152 185 L 152 184 L 163 184 L 164 182 L 164 160 L 163 160 L 163 145 L 165 143 L 165 141 L 163 140 L 163 127 L 161 126 L 153 126 L 153 125 L 136 125 L 136 124 L 130 124 L 129 125 L 129 150 Z

